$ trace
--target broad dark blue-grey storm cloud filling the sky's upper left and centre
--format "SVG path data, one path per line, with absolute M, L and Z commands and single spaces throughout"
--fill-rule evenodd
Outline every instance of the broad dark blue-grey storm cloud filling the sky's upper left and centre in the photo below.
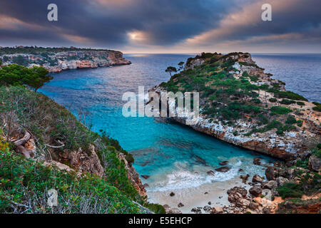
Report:
M 58 5 L 58 22 L 46 19 L 50 3 Z M 127 33 L 137 30 L 149 34 L 148 43 L 167 45 L 215 26 L 227 11 L 228 4 L 204 0 L 1 1 L 0 15 L 43 28 L 21 25 L 16 31 L 0 26 L 0 36 L 1 41 L 25 38 L 63 43 L 68 41 L 63 33 L 88 38 L 93 43 L 121 46 L 128 42 Z

